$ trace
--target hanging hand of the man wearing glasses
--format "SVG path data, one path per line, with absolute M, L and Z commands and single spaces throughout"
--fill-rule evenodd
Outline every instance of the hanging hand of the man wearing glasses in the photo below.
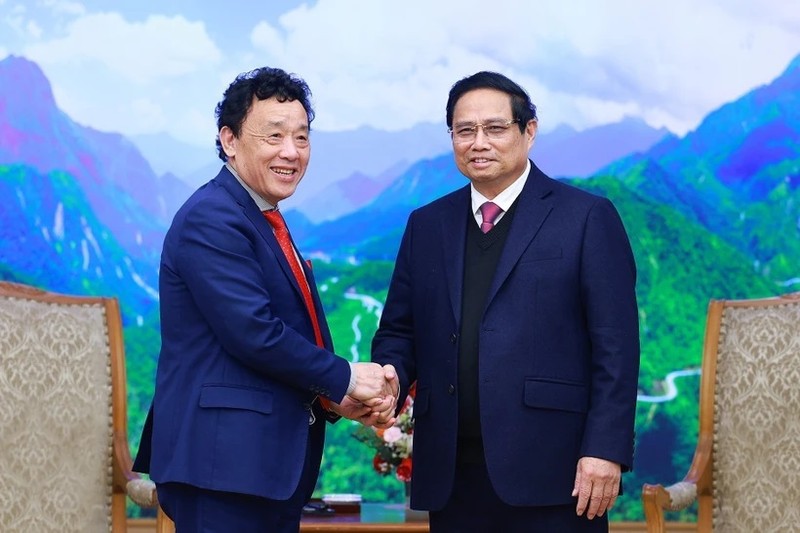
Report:
M 603 516 L 614 506 L 619 495 L 619 481 L 622 469 L 618 463 L 598 459 L 597 457 L 581 457 L 575 473 L 575 487 L 572 495 L 578 497 L 576 512 L 586 518 Z

